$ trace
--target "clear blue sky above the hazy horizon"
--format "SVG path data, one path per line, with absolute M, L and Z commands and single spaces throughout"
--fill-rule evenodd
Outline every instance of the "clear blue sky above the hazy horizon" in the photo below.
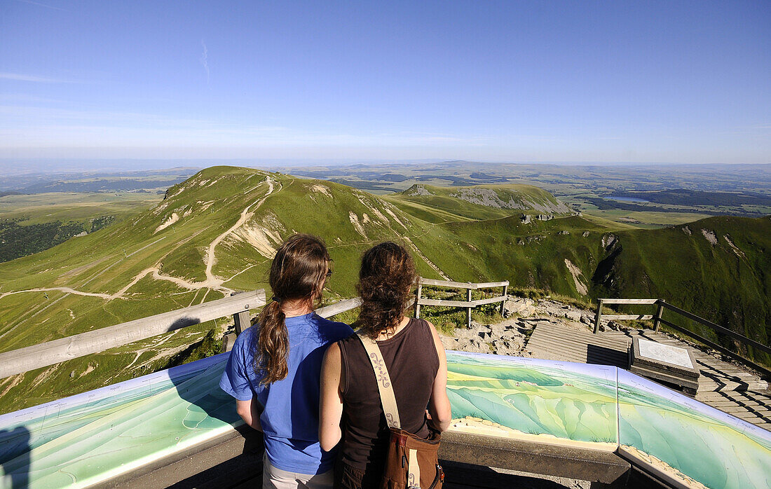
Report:
M 0 0 L 0 158 L 771 162 L 771 2 Z

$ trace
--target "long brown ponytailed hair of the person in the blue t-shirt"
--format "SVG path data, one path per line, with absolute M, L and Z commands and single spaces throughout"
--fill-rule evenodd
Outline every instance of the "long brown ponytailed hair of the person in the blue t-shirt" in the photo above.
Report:
M 312 307 L 322 297 L 328 263 L 324 242 L 310 234 L 289 236 L 278 248 L 269 278 L 273 298 L 257 319 L 254 371 L 262 376 L 260 383 L 268 385 L 287 377 L 289 333 L 281 303 L 294 300 Z

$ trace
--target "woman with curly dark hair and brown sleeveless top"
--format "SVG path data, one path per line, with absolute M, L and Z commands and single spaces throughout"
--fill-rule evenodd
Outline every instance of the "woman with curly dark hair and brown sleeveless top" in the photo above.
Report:
M 404 315 L 416 279 L 415 263 L 404 247 L 381 243 L 368 250 L 356 286 L 362 306 L 355 327 L 377 342 L 391 377 L 402 429 L 428 439 L 431 430 L 447 429 L 451 413 L 439 335 L 428 321 Z M 332 450 L 342 439 L 335 487 L 377 487 L 389 427 L 372 364 L 357 335 L 328 348 L 321 384 L 322 450 Z

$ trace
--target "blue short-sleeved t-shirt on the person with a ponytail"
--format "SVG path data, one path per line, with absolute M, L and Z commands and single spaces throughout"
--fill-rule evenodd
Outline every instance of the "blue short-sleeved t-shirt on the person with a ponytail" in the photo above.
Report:
M 286 318 L 289 333 L 288 374 L 284 380 L 261 385 L 254 372 L 254 343 L 258 327 L 237 338 L 220 379 L 222 390 L 237 400 L 255 395 L 263 407 L 260 424 L 265 452 L 274 467 L 300 474 L 332 469 L 333 452 L 318 444 L 318 392 L 322 359 L 330 343 L 353 333 L 345 323 L 325 320 L 316 313 Z

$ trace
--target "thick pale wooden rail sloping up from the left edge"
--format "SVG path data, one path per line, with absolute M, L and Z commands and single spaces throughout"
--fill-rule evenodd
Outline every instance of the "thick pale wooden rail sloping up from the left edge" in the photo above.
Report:
M 250 326 L 249 310 L 264 305 L 264 290 L 242 292 L 197 306 L 0 353 L 0 379 L 231 315 L 236 332 L 241 333 Z

